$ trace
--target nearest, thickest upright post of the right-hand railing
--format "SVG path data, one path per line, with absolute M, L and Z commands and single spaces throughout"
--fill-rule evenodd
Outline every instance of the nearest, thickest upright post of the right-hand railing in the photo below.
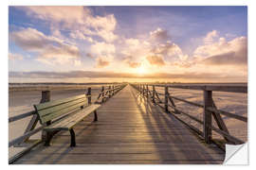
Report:
M 204 91 L 204 139 L 207 144 L 211 141 L 211 112 L 207 108 L 212 107 L 212 91 Z

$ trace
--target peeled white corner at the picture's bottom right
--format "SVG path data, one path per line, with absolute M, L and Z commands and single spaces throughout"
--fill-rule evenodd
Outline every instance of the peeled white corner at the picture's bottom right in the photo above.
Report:
M 248 147 L 246 144 L 226 144 L 226 156 L 223 164 L 225 165 L 247 165 Z

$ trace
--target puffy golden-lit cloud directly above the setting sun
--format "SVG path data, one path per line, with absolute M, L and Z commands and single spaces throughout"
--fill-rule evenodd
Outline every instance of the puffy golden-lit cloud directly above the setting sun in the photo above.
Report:
M 157 28 L 150 32 L 146 40 L 135 38 L 125 39 L 121 46 L 123 61 L 128 63 L 129 67 L 137 68 L 140 64 L 150 66 L 164 66 L 167 61 L 186 60 L 188 55 L 182 53 L 181 48 L 174 42 L 166 41 L 170 38 L 166 30 Z M 156 42 L 151 42 L 157 39 Z

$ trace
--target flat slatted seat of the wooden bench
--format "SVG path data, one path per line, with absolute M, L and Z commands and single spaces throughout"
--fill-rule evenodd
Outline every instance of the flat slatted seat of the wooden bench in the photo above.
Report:
M 46 130 L 69 130 L 70 128 L 74 127 L 78 122 L 82 121 L 84 117 L 86 117 L 88 114 L 93 112 L 94 110 L 97 110 L 100 108 L 101 105 L 90 105 L 79 112 L 70 115 L 64 119 L 62 119 L 59 122 L 56 122 L 48 127 L 45 127 Z

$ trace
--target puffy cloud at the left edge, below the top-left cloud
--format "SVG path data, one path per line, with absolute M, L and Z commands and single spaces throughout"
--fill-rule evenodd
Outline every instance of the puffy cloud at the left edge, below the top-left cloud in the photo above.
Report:
M 37 60 L 47 64 L 74 63 L 81 57 L 77 46 L 30 27 L 10 33 L 10 41 L 28 52 L 37 53 Z

